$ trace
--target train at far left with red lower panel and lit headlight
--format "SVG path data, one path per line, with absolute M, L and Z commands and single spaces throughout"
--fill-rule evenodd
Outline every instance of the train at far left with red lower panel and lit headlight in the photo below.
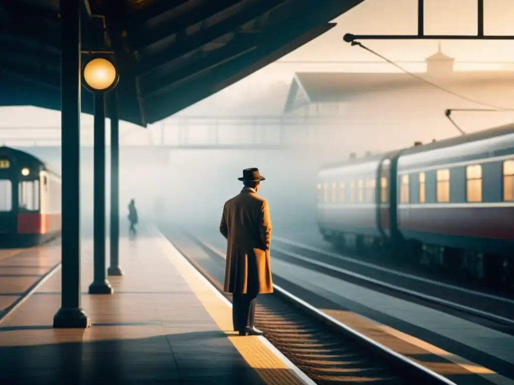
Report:
M 27 152 L 0 147 L 0 246 L 31 246 L 61 233 L 61 177 Z

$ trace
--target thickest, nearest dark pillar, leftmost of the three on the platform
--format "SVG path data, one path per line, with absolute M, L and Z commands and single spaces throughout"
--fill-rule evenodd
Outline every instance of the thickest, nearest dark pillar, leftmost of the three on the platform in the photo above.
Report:
M 87 328 L 80 307 L 80 9 L 82 0 L 61 0 L 61 309 L 54 328 Z

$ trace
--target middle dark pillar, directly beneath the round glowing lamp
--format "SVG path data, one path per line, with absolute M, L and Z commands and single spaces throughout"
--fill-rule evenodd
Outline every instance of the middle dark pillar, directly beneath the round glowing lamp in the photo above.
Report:
M 95 93 L 95 128 L 93 155 L 93 259 L 94 279 L 89 294 L 112 294 L 105 266 L 105 95 Z

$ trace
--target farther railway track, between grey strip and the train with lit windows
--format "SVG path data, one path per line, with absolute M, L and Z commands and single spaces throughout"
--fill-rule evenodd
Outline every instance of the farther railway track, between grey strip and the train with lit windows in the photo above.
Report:
M 279 246 L 273 246 L 273 255 L 285 261 L 299 263 L 317 271 L 344 278 L 348 282 L 370 287 L 373 290 L 409 300 L 414 299 L 424 305 L 444 307 L 453 310 L 454 314 L 458 316 L 462 316 L 464 313 L 482 318 L 499 326 L 507 326 L 507 329 L 498 329 L 514 333 L 513 299 L 394 271 L 307 245 L 298 245 L 283 238 L 278 238 L 274 242 Z M 289 247 L 286 248 L 287 246 Z M 348 266 L 348 262 L 351 266 Z M 373 278 L 373 271 L 380 271 L 387 275 L 376 279 Z M 402 282 L 405 281 L 405 284 L 397 284 L 399 278 L 402 279 Z

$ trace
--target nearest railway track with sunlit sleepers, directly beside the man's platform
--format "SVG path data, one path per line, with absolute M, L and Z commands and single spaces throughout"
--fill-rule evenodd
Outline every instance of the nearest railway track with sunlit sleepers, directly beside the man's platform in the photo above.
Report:
M 168 239 L 219 291 L 222 285 L 188 253 L 183 244 Z M 208 244 L 188 234 L 218 266 L 225 258 Z M 453 384 L 427 368 L 348 328 L 281 287 L 259 299 L 255 325 L 290 361 L 319 385 L 344 382 L 374 384 Z M 231 300 L 230 296 L 227 296 Z

